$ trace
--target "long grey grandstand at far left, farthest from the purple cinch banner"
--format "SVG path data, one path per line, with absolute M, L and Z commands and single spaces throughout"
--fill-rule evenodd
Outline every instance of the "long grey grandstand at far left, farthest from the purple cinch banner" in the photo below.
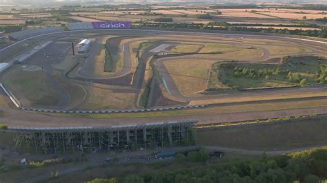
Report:
M 39 34 L 47 34 L 52 32 L 61 32 L 63 28 L 61 27 L 50 27 L 50 28 L 38 28 L 33 30 L 22 30 L 19 32 L 14 32 L 9 34 L 9 39 L 14 41 L 19 41 L 21 39 L 26 39 L 30 36 L 37 36 Z

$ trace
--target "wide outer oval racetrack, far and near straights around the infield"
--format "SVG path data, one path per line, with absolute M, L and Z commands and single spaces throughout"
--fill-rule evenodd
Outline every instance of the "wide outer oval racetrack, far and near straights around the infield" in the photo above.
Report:
M 89 33 L 89 32 L 99 32 L 103 33 L 106 32 L 108 34 L 117 34 L 117 30 L 77 30 L 77 31 L 68 31 L 68 32 L 54 32 L 50 34 L 43 34 L 43 35 L 38 35 L 38 36 L 32 36 L 27 39 L 23 39 L 21 41 L 18 41 L 17 43 L 14 43 L 12 45 L 9 45 L 8 47 L 5 47 L 0 50 L 0 54 L 3 52 L 10 51 L 12 48 L 15 46 L 20 46 L 25 43 L 25 41 L 28 41 L 29 39 L 37 39 L 39 37 L 45 36 L 46 38 L 49 39 L 54 39 L 56 36 L 65 36 L 69 35 L 75 32 L 79 33 Z M 205 33 L 205 32 L 175 32 L 175 31 L 162 31 L 162 30 L 119 30 L 119 34 L 133 34 L 135 32 L 139 33 L 146 33 L 146 34 L 188 34 L 191 36 L 232 36 L 232 37 L 239 37 L 242 36 L 244 38 L 256 38 L 256 39 L 277 39 L 277 40 L 283 40 L 283 41 L 292 41 L 294 43 L 306 43 L 309 45 L 315 45 L 315 46 L 326 46 L 327 43 L 323 41 L 313 41 L 313 40 L 306 40 L 306 39 L 297 39 L 297 38 L 289 38 L 289 37 L 279 37 L 279 36 L 267 36 L 267 35 L 252 35 L 252 34 L 223 34 L 223 33 Z M 126 52 L 129 54 L 129 52 Z M 130 56 L 130 55 L 129 55 Z M 129 69 L 125 69 L 125 72 L 121 72 L 119 76 L 123 76 L 126 74 L 126 72 L 129 72 Z M 118 77 L 118 76 L 115 76 Z M 113 77 L 113 78 L 115 78 Z M 108 77 L 110 78 L 110 77 Z M 121 125 L 121 124 L 130 124 L 130 123 L 137 123 L 133 119 L 99 119 L 99 120 L 94 120 L 94 119 L 88 119 L 88 118 L 71 118 L 67 116 L 48 116 L 44 114 L 36 114 L 36 113 L 29 113 L 25 111 L 18 111 L 16 109 L 5 109 L 3 110 L 6 112 L 6 115 L 0 119 L 0 122 L 6 122 L 8 124 L 11 124 L 12 126 L 37 126 L 37 127 L 47 127 L 47 126 L 90 126 L 92 125 L 95 126 L 103 126 L 103 125 Z M 314 109 L 306 109 L 306 111 L 303 111 L 301 109 L 297 110 L 290 110 L 289 112 L 291 114 L 297 114 L 297 113 L 313 113 Z M 315 109 L 317 111 L 316 113 L 326 113 L 327 109 L 326 107 L 324 108 L 317 108 Z M 194 118 L 199 118 L 199 122 L 201 124 L 205 123 L 210 123 L 212 120 L 217 119 L 217 118 L 228 118 L 230 114 L 210 114 L 210 115 L 194 115 L 194 116 L 170 116 L 170 117 L 159 117 L 159 118 L 139 118 L 138 122 L 155 122 L 155 121 L 166 121 L 166 120 L 187 120 L 187 119 L 194 119 Z M 240 113 L 235 114 L 241 115 Z M 245 114 L 242 114 L 245 115 Z M 273 112 L 263 112 L 261 114 L 256 113 L 256 114 L 248 114 L 248 119 L 250 119 L 251 116 L 257 116 L 259 117 L 260 115 L 264 115 L 263 117 L 268 117 L 268 116 L 283 116 L 283 111 L 273 111 Z M 24 116 L 26 118 L 24 118 Z M 230 118 L 232 119 L 232 118 Z M 247 119 L 247 118 L 244 118 Z M 235 119 L 236 120 L 236 119 Z M 218 120 L 215 122 L 219 122 Z M 222 122 L 222 121 L 220 121 Z

